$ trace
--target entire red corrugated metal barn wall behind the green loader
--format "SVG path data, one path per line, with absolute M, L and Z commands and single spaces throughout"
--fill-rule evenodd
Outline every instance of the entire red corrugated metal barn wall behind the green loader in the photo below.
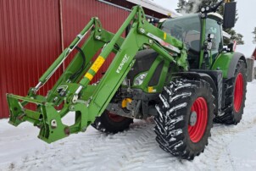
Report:
M 131 8 L 130 3 L 127 5 Z M 97 16 L 104 29 L 116 32 L 128 14 L 125 9 L 97 0 L 0 0 L 0 119 L 9 115 L 6 93 L 25 96 L 92 17 Z M 113 58 L 109 56 L 94 81 Z M 46 95 L 63 69 L 61 66 L 53 74 L 40 94 Z

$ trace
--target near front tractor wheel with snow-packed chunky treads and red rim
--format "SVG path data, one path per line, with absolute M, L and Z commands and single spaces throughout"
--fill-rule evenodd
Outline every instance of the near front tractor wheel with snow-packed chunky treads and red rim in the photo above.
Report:
M 208 145 L 214 96 L 205 80 L 174 80 L 164 86 L 154 118 L 156 141 L 175 157 L 192 160 Z

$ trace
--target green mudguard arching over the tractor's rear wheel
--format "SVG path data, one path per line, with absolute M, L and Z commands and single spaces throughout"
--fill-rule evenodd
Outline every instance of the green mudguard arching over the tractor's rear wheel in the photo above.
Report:
M 246 58 L 240 52 L 225 52 L 215 60 L 211 70 L 221 70 L 223 78 L 230 79 L 234 76 L 237 62 L 242 59 L 246 63 Z

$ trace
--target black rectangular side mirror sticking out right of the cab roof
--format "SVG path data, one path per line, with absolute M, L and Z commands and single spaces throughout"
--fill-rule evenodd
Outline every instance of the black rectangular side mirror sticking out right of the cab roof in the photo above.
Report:
M 224 19 L 223 19 L 223 28 L 231 29 L 235 26 L 236 22 L 236 12 L 237 12 L 237 3 L 225 3 L 224 7 Z

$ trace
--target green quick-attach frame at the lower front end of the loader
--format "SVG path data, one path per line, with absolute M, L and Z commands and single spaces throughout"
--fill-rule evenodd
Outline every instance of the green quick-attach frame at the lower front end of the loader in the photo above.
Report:
M 53 108 L 51 103 L 35 100 L 29 97 L 7 95 L 10 119 L 9 124 L 18 126 L 29 121 L 40 128 L 38 138 L 47 143 L 57 141 L 70 134 L 70 128 L 61 122 L 60 113 Z M 36 111 L 26 109 L 25 106 L 34 103 Z

